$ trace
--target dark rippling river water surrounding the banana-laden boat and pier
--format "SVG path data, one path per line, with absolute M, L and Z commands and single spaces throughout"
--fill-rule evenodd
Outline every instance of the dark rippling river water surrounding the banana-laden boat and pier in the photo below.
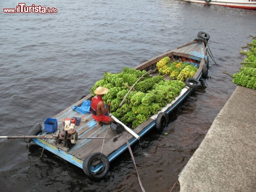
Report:
M 132 146 L 147 192 L 170 191 L 236 85 L 241 46 L 256 35 L 256 11 L 180 0 L 33 0 L 58 13 L 5 14 L 18 1 L 1 1 L 0 135 L 27 134 L 37 122 L 72 105 L 104 72 L 120 72 L 145 59 L 210 35 L 209 79 L 170 115 L 161 134 Z M 106 179 L 23 139 L 0 140 L 0 191 L 141 191 L 128 151 L 111 162 Z M 42 155 L 42 156 L 41 156 Z M 40 157 L 40 158 L 39 158 Z M 173 191 L 179 191 L 175 185 Z

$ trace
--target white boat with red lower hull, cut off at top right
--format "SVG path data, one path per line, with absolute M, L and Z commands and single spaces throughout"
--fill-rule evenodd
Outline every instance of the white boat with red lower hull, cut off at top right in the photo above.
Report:
M 256 0 L 183 0 L 187 2 L 223 5 L 233 8 L 256 9 Z

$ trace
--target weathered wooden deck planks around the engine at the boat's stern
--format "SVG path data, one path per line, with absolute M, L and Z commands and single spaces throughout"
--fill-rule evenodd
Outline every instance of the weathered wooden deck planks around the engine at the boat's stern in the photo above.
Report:
M 151 76 L 158 76 L 159 73 L 151 73 Z M 165 76 L 165 80 L 170 80 L 170 76 Z M 90 95 L 90 98 L 92 95 Z M 89 97 L 83 98 L 80 101 L 76 102 L 72 106 L 81 106 L 83 101 L 90 99 Z M 66 152 L 68 154 L 71 154 L 72 156 L 83 160 L 88 154 L 91 154 L 93 152 L 101 152 L 108 156 L 111 153 L 118 150 L 123 144 L 126 143 L 125 138 L 122 136 L 122 134 L 116 134 L 115 131 L 113 131 L 110 128 L 110 125 L 103 124 L 102 126 L 97 126 L 96 121 L 92 118 L 90 113 L 81 114 L 79 112 L 76 112 L 72 109 L 72 106 L 66 108 L 62 112 L 60 112 L 58 115 L 55 116 L 56 119 L 58 119 L 58 129 L 62 131 L 63 125 L 62 120 L 64 118 L 72 118 L 72 117 L 80 117 L 81 121 L 78 126 L 75 126 L 75 129 L 78 133 L 78 138 L 86 138 L 86 137 L 106 137 L 104 139 L 78 139 L 76 141 L 76 144 L 71 146 L 70 148 L 64 147 L 63 142 L 61 144 L 58 144 L 54 140 L 47 141 L 53 146 L 56 146 Z M 82 121 L 83 119 L 86 119 L 86 121 Z M 153 120 L 149 119 L 148 121 L 143 122 L 140 126 L 136 127 L 135 131 L 136 133 L 139 133 L 142 131 L 146 126 L 148 126 Z M 107 132 L 106 132 L 107 131 Z M 133 136 L 131 136 L 130 133 L 124 131 L 125 137 L 130 140 Z M 102 146 L 103 145 L 103 146 Z

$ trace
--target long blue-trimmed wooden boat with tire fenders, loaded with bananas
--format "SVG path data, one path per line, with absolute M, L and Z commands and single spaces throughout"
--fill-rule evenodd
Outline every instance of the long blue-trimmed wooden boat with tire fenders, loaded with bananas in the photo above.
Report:
M 159 110 L 157 114 L 152 115 L 150 118 L 132 130 L 132 132 L 135 132 L 135 134 L 139 136 L 138 138 L 144 136 L 154 127 L 157 127 L 157 129 L 160 130 L 166 127 L 168 124 L 168 114 L 176 109 L 194 88 L 201 88 L 199 79 L 201 77 L 208 77 L 208 51 L 206 48 L 208 40 L 209 35 L 203 31 L 200 31 L 194 41 L 158 55 L 150 60 L 146 60 L 135 67 L 136 70 L 154 70 L 156 69 L 156 63 L 158 61 L 165 57 L 169 57 L 171 61 L 179 60 L 181 58 L 193 60 L 196 62 L 198 68 L 193 78 L 186 79 L 186 86 L 171 103 L 166 104 L 166 106 Z M 158 75 L 158 70 L 154 70 L 151 73 L 151 76 Z M 165 76 L 164 79 L 170 80 L 170 76 Z M 90 101 L 92 97 L 92 94 L 88 94 L 56 116 L 49 118 L 50 121 L 55 119 L 55 122 L 48 123 L 47 121 L 49 121 L 49 119 L 47 119 L 47 121 L 42 125 L 36 124 L 30 131 L 29 135 L 36 133 L 36 135 L 38 134 L 38 137 L 29 140 L 27 139 L 26 142 L 33 141 L 35 144 L 38 144 L 44 149 L 70 162 L 71 164 L 80 167 L 83 169 L 85 174 L 88 175 L 88 177 L 93 179 L 101 179 L 108 173 L 110 162 L 128 148 L 128 144 L 126 143 L 126 139 L 124 137 L 127 138 L 129 145 L 138 141 L 138 138 L 134 137 L 128 131 L 123 131 L 123 135 L 121 135 L 121 133 L 118 133 L 118 131 L 114 131 L 113 127 L 111 127 L 111 129 L 110 125 L 108 124 L 97 126 L 97 123 L 92 118 L 91 113 L 83 114 L 73 110 L 74 106 L 81 106 L 83 103 L 85 103 L 85 101 Z M 71 138 L 71 142 L 65 143 L 63 141 L 66 138 L 64 135 L 61 135 L 61 130 L 65 130 L 66 120 L 67 122 L 71 122 L 73 121 L 73 117 L 76 119 L 81 118 L 80 124 L 77 124 L 71 128 L 72 130 L 68 130 L 73 132 L 75 129 L 73 133 L 68 132 L 70 135 L 73 134 L 74 138 Z M 53 126 L 54 124 L 57 125 L 56 129 L 48 131 L 48 125 Z M 119 125 L 116 126 L 117 128 L 120 127 Z M 53 136 L 56 135 L 55 138 L 58 139 L 52 139 L 53 137 L 49 137 L 50 139 L 42 139 L 42 137 L 39 137 L 50 135 L 49 132 L 53 132 Z M 103 139 L 93 139 L 94 137 L 101 137 Z M 95 162 L 95 159 L 100 159 L 100 161 Z

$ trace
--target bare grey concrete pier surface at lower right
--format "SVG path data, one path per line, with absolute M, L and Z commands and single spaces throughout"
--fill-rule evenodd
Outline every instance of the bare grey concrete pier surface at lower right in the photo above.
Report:
M 256 90 L 237 86 L 179 175 L 180 191 L 256 191 Z

